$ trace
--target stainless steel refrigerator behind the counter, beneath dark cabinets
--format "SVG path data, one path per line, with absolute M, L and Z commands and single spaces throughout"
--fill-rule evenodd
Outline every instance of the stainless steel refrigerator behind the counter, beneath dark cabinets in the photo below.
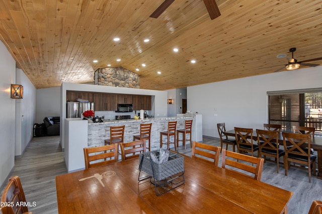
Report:
M 92 109 L 93 102 L 67 102 L 66 118 L 83 118 L 83 112 Z

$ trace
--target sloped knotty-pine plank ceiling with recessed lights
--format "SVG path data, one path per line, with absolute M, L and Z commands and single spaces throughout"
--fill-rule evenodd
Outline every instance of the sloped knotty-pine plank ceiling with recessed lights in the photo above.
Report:
M 203 0 L 176 0 L 149 18 L 163 2 L 0 1 L 0 39 L 38 89 L 92 82 L 108 64 L 138 73 L 142 89 L 168 90 L 272 73 L 293 47 L 298 61 L 322 57 L 320 1 L 216 0 L 211 20 Z

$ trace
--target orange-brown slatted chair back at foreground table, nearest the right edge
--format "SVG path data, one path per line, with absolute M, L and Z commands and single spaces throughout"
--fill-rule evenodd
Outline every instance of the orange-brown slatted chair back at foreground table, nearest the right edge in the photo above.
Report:
M 240 154 L 240 153 L 228 151 L 225 149 L 223 149 L 221 152 L 221 158 L 222 158 L 221 160 L 222 168 L 225 168 L 228 170 L 234 170 L 233 168 L 237 168 L 239 170 L 234 170 L 234 171 L 246 174 L 247 176 L 252 177 L 255 180 L 259 180 L 259 181 L 261 180 L 264 158 L 253 157 L 250 155 Z M 254 166 L 254 164 L 256 164 L 256 166 Z M 226 165 L 230 167 L 226 168 Z M 249 173 L 245 173 L 245 172 L 249 172 Z M 250 174 L 254 174 L 254 175 L 252 176 Z

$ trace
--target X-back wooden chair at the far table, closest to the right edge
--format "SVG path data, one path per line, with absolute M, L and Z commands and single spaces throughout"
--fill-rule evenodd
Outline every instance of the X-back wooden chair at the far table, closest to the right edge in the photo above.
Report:
M 308 170 L 308 181 L 311 182 L 311 168 L 313 174 L 316 175 L 316 156 L 308 152 L 311 148 L 311 135 L 289 132 L 282 132 L 282 135 L 286 160 L 284 161 L 285 175 L 287 175 L 287 170 L 290 169 L 290 162 L 293 162 L 294 165 L 292 166 Z M 288 143 L 288 145 L 286 143 Z M 295 163 L 302 165 L 302 167 L 295 165 Z

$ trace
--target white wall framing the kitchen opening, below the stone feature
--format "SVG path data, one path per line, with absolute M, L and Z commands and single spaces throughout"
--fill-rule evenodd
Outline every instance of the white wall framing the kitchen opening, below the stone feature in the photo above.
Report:
M 121 88 L 110 86 L 99 86 L 89 84 L 74 84 L 62 83 L 60 87 L 60 121 L 64 121 L 66 117 L 66 91 L 89 91 L 89 92 L 103 92 L 103 93 L 116 93 L 116 94 L 138 94 L 138 95 L 151 95 L 152 96 L 152 110 L 151 115 L 154 117 L 166 117 L 167 111 L 167 96 L 166 91 Z M 60 144 L 64 148 L 64 123 L 60 123 Z

